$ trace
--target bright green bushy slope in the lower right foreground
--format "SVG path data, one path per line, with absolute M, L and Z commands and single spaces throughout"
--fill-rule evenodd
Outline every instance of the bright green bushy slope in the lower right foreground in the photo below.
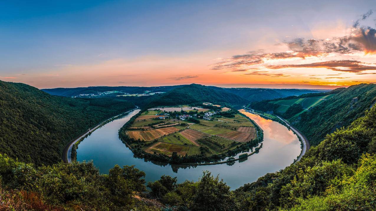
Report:
M 375 153 L 373 106 L 348 128 L 328 134 L 296 164 L 238 188 L 240 210 L 374 210 Z

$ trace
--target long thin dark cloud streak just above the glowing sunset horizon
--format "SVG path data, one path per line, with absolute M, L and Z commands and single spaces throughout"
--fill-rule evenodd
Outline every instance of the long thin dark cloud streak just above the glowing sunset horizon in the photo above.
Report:
M 268 65 L 269 69 L 282 69 L 282 68 L 326 68 L 334 71 L 342 72 L 362 72 L 366 70 L 376 70 L 376 66 L 367 66 L 364 63 L 356 60 L 331 60 L 327 62 L 315 62 L 300 65 Z

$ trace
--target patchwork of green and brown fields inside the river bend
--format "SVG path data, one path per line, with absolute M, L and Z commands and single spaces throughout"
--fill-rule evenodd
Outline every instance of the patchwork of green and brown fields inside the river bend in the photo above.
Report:
M 197 109 L 199 112 L 202 108 L 180 105 L 180 107 L 165 107 L 164 109 L 188 111 Z M 197 112 L 197 110 L 194 111 Z M 177 152 L 182 156 L 185 154 L 210 156 L 235 149 L 242 142 L 256 137 L 252 122 L 239 113 L 234 114 L 233 118 L 222 116 L 207 120 L 196 117 L 199 121 L 196 124 L 180 120 L 175 115 L 173 117 L 166 115 L 166 119 L 163 120 L 157 119 L 161 116 L 156 115 L 158 113 L 161 113 L 161 110 L 147 110 L 130 125 L 127 131 L 128 136 L 134 140 L 144 141 L 130 143 L 131 146 L 141 148 L 144 152 L 151 154 L 155 152 L 171 156 L 173 152 Z M 209 113 L 215 115 L 212 110 Z M 182 123 L 184 125 L 180 125 Z

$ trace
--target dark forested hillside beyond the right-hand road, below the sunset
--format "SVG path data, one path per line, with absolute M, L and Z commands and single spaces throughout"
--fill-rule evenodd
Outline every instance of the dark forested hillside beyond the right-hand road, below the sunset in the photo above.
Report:
M 331 95 L 320 103 L 305 110 L 299 104 L 291 105 L 285 112 L 280 112 L 280 104 L 271 103 L 283 101 L 285 104 L 293 99 L 315 98 Z M 299 102 L 299 100 L 297 100 Z M 263 112 L 273 111 L 277 115 L 288 119 L 309 140 L 311 145 L 320 143 L 326 134 L 337 128 L 346 127 L 356 118 L 364 115 L 376 102 L 375 84 L 358 84 L 348 88 L 338 88 L 326 93 L 309 93 L 300 96 L 253 102 L 250 108 Z M 300 103 L 301 104 L 301 103 Z

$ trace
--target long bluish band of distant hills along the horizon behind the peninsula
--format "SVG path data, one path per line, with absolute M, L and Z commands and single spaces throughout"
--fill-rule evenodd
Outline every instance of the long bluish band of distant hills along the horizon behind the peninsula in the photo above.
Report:
M 119 98 L 127 99 L 133 102 L 140 103 L 141 105 L 145 104 L 144 101 L 147 98 L 152 98 L 147 100 L 146 102 L 157 102 L 156 96 L 153 96 L 155 93 L 162 93 L 162 98 L 165 100 L 168 100 L 168 104 L 176 104 L 171 101 L 171 93 L 167 94 L 166 92 L 173 91 L 175 89 L 176 92 L 180 92 L 180 89 L 189 89 L 188 87 L 194 85 L 177 85 L 177 86 L 155 86 L 155 87 L 132 87 L 132 86 L 118 86 L 118 87 L 111 87 L 111 86 L 95 86 L 95 87 L 78 87 L 78 88 L 56 88 L 56 89 L 42 89 L 44 92 L 50 93 L 52 95 L 58 95 L 58 96 L 67 96 L 67 97 L 112 97 L 112 98 Z M 199 84 L 195 84 L 199 85 Z M 183 88 L 185 86 L 188 86 L 187 88 Z M 321 92 L 327 92 L 329 90 L 309 90 L 309 89 L 261 89 L 261 88 L 222 88 L 222 87 L 216 87 L 216 86 L 202 86 L 199 85 L 200 88 L 203 90 L 195 89 L 191 90 L 194 92 L 197 92 L 197 96 L 194 96 L 195 93 L 191 92 L 189 93 L 191 97 L 190 99 L 205 99 L 204 101 L 211 101 L 212 99 L 209 99 L 210 97 L 213 97 L 216 100 L 216 96 L 223 96 L 224 98 L 219 99 L 218 102 L 228 102 L 230 104 L 238 104 L 245 102 L 244 99 L 247 101 L 253 102 L 253 101 L 261 101 L 265 99 L 275 99 L 275 98 L 284 98 L 287 96 L 292 95 L 302 95 L 306 93 L 321 93 Z M 197 87 L 196 87 L 197 88 Z M 202 95 L 202 93 L 206 93 L 206 95 Z M 209 94 L 209 92 L 214 92 L 213 96 Z M 234 96 L 230 95 L 224 95 L 223 93 L 219 94 L 218 92 L 227 92 L 231 93 L 233 95 L 237 95 L 240 98 L 243 98 L 243 100 L 239 100 L 239 98 L 235 98 Z M 163 93 L 166 93 L 163 95 Z M 124 96 L 120 96 L 124 95 Z M 137 96 L 130 96 L 130 95 L 137 95 Z M 170 95 L 168 97 L 167 95 Z M 226 97 L 234 98 L 236 99 L 234 102 L 228 101 Z M 179 96 L 180 98 L 180 96 Z M 179 101 L 181 101 L 179 99 Z M 188 102 L 189 100 L 186 100 Z M 242 102 L 243 101 L 243 102 Z M 161 102 L 161 101 L 159 101 Z M 167 104 L 166 104 L 167 105 Z

